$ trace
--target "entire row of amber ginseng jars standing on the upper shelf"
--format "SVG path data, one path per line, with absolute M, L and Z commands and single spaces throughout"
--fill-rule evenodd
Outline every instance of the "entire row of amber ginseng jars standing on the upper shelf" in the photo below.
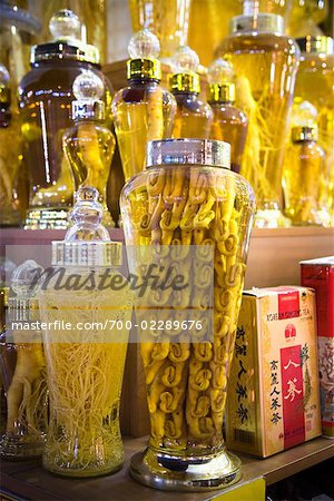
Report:
M 234 18 L 233 35 L 217 51 L 225 61 L 217 60 L 209 69 L 210 106 L 199 99 L 199 61 L 187 47 L 170 61 L 174 97 L 159 86 L 159 42 L 144 30 L 129 43 L 129 87 L 114 97 L 112 114 L 111 86 L 98 70 L 98 52 L 76 40 L 78 18 L 70 11 L 53 17 L 50 29 L 55 41 L 32 49 L 32 70 L 20 85 L 20 118 L 10 105 L 9 82 L 2 85 L 2 224 L 16 223 L 6 204 L 22 159 L 20 130 L 30 178 L 27 228 L 66 227 L 72 194 L 81 184 L 96 186 L 106 204 L 115 141 L 102 122 L 109 126 L 112 115 L 126 180 L 143 170 L 148 140 L 223 139 L 232 145 L 234 168 L 255 189 L 258 226 L 287 224 L 281 213 L 282 173 L 285 214 L 293 223 L 328 225 L 333 205 L 333 40 L 306 38 L 301 42 L 304 53 L 295 91 L 294 141 L 284 160 L 299 51 L 283 35 L 281 17 L 259 13 L 255 27 L 257 11 L 254 8 L 250 12 L 246 4 L 248 14 Z M 75 78 L 84 70 L 90 73 L 81 75 L 84 94 L 78 95 Z M 6 71 L 3 76 L 6 80 Z M 66 132 L 71 119 L 76 126 Z M 317 127 L 321 146 L 316 145 Z M 19 151 L 9 149 L 9 141 L 17 143 Z M 107 210 L 106 217 L 110 225 Z

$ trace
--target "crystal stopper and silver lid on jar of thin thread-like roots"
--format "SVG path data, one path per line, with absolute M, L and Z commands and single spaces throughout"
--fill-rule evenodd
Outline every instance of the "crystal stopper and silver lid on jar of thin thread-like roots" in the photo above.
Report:
M 101 225 L 104 208 L 92 187 L 79 188 L 71 212 L 75 222 L 61 242 L 52 242 L 53 266 L 120 266 L 121 243 L 111 242 Z

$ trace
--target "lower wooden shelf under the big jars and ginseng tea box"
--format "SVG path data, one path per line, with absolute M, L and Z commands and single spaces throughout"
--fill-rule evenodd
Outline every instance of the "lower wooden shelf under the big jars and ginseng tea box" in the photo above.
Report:
M 45 471 L 38 461 L 12 463 L 2 461 L 1 489 L 13 500 L 35 501 L 224 501 L 224 493 L 244 488 L 263 478 L 266 485 L 334 458 L 334 441 L 318 438 L 272 458 L 261 460 L 238 454 L 243 461 L 243 478 L 225 491 L 175 493 L 143 487 L 128 473 L 131 455 L 145 446 L 145 439 L 125 440 L 126 463 L 121 471 L 99 479 L 61 479 Z M 10 498 L 9 498 L 10 499 Z

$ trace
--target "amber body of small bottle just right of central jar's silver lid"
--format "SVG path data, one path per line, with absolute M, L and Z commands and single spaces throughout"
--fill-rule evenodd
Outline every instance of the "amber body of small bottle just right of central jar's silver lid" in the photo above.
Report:
M 228 104 L 210 102 L 210 106 L 214 121 L 209 137 L 230 145 L 230 169 L 239 173 L 247 135 L 246 115 Z

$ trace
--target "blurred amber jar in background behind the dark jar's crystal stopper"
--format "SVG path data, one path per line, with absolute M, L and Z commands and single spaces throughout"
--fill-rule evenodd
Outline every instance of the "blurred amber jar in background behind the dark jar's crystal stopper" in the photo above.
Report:
M 38 43 L 50 39 L 49 19 L 61 9 L 72 10 L 81 23 L 81 40 L 99 49 L 100 61 L 106 62 L 106 0 L 29 0 L 31 13 L 42 22 Z

